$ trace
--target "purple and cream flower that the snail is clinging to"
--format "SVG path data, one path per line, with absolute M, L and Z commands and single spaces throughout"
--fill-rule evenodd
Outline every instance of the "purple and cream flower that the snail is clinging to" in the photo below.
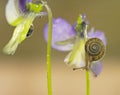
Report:
M 86 63 L 85 46 L 89 39 L 98 38 L 104 46 L 106 46 L 106 38 L 103 32 L 94 31 L 92 28 L 87 30 L 88 24 L 85 21 L 85 15 L 78 17 L 76 25 L 70 25 L 62 18 L 53 20 L 52 47 L 60 51 L 70 51 L 64 62 L 75 68 L 89 69 L 95 76 L 98 76 L 102 71 L 101 59 L 89 61 Z M 47 41 L 48 24 L 44 28 L 44 37 Z M 94 47 L 97 49 L 97 47 Z

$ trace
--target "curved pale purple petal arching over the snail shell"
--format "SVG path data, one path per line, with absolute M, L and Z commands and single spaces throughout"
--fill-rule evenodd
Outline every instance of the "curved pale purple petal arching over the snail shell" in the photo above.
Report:
M 94 28 L 92 28 L 91 31 L 88 32 L 88 37 L 89 38 L 99 38 L 103 41 L 103 43 L 105 45 L 107 44 L 106 37 L 105 37 L 104 33 L 101 31 L 94 31 Z

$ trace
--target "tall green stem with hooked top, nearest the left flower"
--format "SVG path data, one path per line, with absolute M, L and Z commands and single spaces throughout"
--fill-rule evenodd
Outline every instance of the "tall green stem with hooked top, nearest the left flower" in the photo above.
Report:
M 51 80 L 51 41 L 52 41 L 52 12 L 50 7 L 44 5 L 48 12 L 48 44 L 47 44 L 47 87 L 48 95 L 52 95 L 52 80 Z

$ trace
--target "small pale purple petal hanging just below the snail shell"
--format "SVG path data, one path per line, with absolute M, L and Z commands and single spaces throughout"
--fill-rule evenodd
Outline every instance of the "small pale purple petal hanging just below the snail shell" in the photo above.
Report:
M 102 71 L 103 65 L 100 61 L 98 62 L 92 62 L 90 64 L 90 70 L 92 71 L 92 73 L 97 77 L 101 71 Z

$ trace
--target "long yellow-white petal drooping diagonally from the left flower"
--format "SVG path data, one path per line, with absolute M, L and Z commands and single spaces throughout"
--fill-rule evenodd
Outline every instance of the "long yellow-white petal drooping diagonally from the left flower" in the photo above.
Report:
M 13 36 L 8 44 L 3 49 L 4 53 L 13 55 L 18 45 L 25 40 L 27 33 L 32 25 L 36 14 L 30 13 L 24 20 L 15 28 Z

